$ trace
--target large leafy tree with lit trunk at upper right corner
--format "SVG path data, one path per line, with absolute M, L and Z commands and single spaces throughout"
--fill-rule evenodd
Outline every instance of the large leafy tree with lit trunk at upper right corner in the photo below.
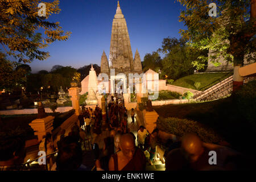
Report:
M 200 49 L 210 49 L 215 53 L 210 60 L 218 65 L 219 56 L 234 63 L 233 90 L 242 85 L 238 68 L 243 65 L 243 59 L 255 60 L 256 51 L 256 1 L 255 0 L 213 0 L 217 5 L 217 16 L 208 15 L 209 1 L 178 0 L 186 9 L 180 13 L 180 21 L 187 30 L 180 33 L 191 46 Z M 201 56 L 201 61 L 194 64 L 200 67 L 207 61 Z

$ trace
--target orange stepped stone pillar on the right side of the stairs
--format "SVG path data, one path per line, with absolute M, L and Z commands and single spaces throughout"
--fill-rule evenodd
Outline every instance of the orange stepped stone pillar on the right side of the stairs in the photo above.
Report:
M 142 113 L 143 113 L 145 127 L 149 133 L 152 133 L 152 131 L 156 128 L 156 121 L 159 115 L 158 113 L 156 113 L 155 110 L 146 111 L 144 109 Z

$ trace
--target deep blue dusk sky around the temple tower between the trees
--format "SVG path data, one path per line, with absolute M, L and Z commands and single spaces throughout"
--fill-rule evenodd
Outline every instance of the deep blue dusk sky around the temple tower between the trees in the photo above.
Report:
M 156 51 L 163 38 L 180 38 L 179 14 L 184 9 L 175 0 L 120 0 L 131 40 L 133 56 L 136 49 L 141 59 Z M 109 58 L 112 21 L 117 0 L 60 0 L 60 14 L 49 20 L 60 22 L 64 31 L 71 31 L 67 41 L 52 43 L 44 49 L 51 55 L 47 60 L 33 61 L 32 73 L 51 70 L 53 65 L 80 68 L 88 64 L 100 65 L 105 50 Z

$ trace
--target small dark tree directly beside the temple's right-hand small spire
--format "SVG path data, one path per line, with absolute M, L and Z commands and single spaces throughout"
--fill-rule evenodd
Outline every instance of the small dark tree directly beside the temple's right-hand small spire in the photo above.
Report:
M 146 53 L 142 62 L 142 69 L 144 72 L 148 69 L 152 69 L 155 72 L 158 72 L 156 69 L 162 67 L 161 61 L 162 59 L 158 52 L 154 51 L 152 53 Z

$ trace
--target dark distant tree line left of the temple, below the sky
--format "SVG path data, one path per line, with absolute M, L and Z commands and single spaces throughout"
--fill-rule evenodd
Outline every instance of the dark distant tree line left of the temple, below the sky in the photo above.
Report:
M 19 64 L 15 69 L 10 70 L 13 74 L 19 73 L 19 78 L 13 79 L 5 85 L 1 85 L 1 89 L 18 91 L 25 88 L 27 93 L 38 93 L 41 90 L 45 92 L 58 92 L 61 86 L 67 91 L 72 81 L 80 82 L 89 75 L 91 67 L 92 65 L 85 65 L 84 67 L 75 69 L 70 66 L 54 65 L 49 72 L 41 70 L 37 73 L 31 73 L 31 67 L 29 65 Z M 97 64 L 93 64 L 93 68 L 98 75 L 100 73 L 100 67 Z M 20 75 L 22 76 L 20 77 Z

